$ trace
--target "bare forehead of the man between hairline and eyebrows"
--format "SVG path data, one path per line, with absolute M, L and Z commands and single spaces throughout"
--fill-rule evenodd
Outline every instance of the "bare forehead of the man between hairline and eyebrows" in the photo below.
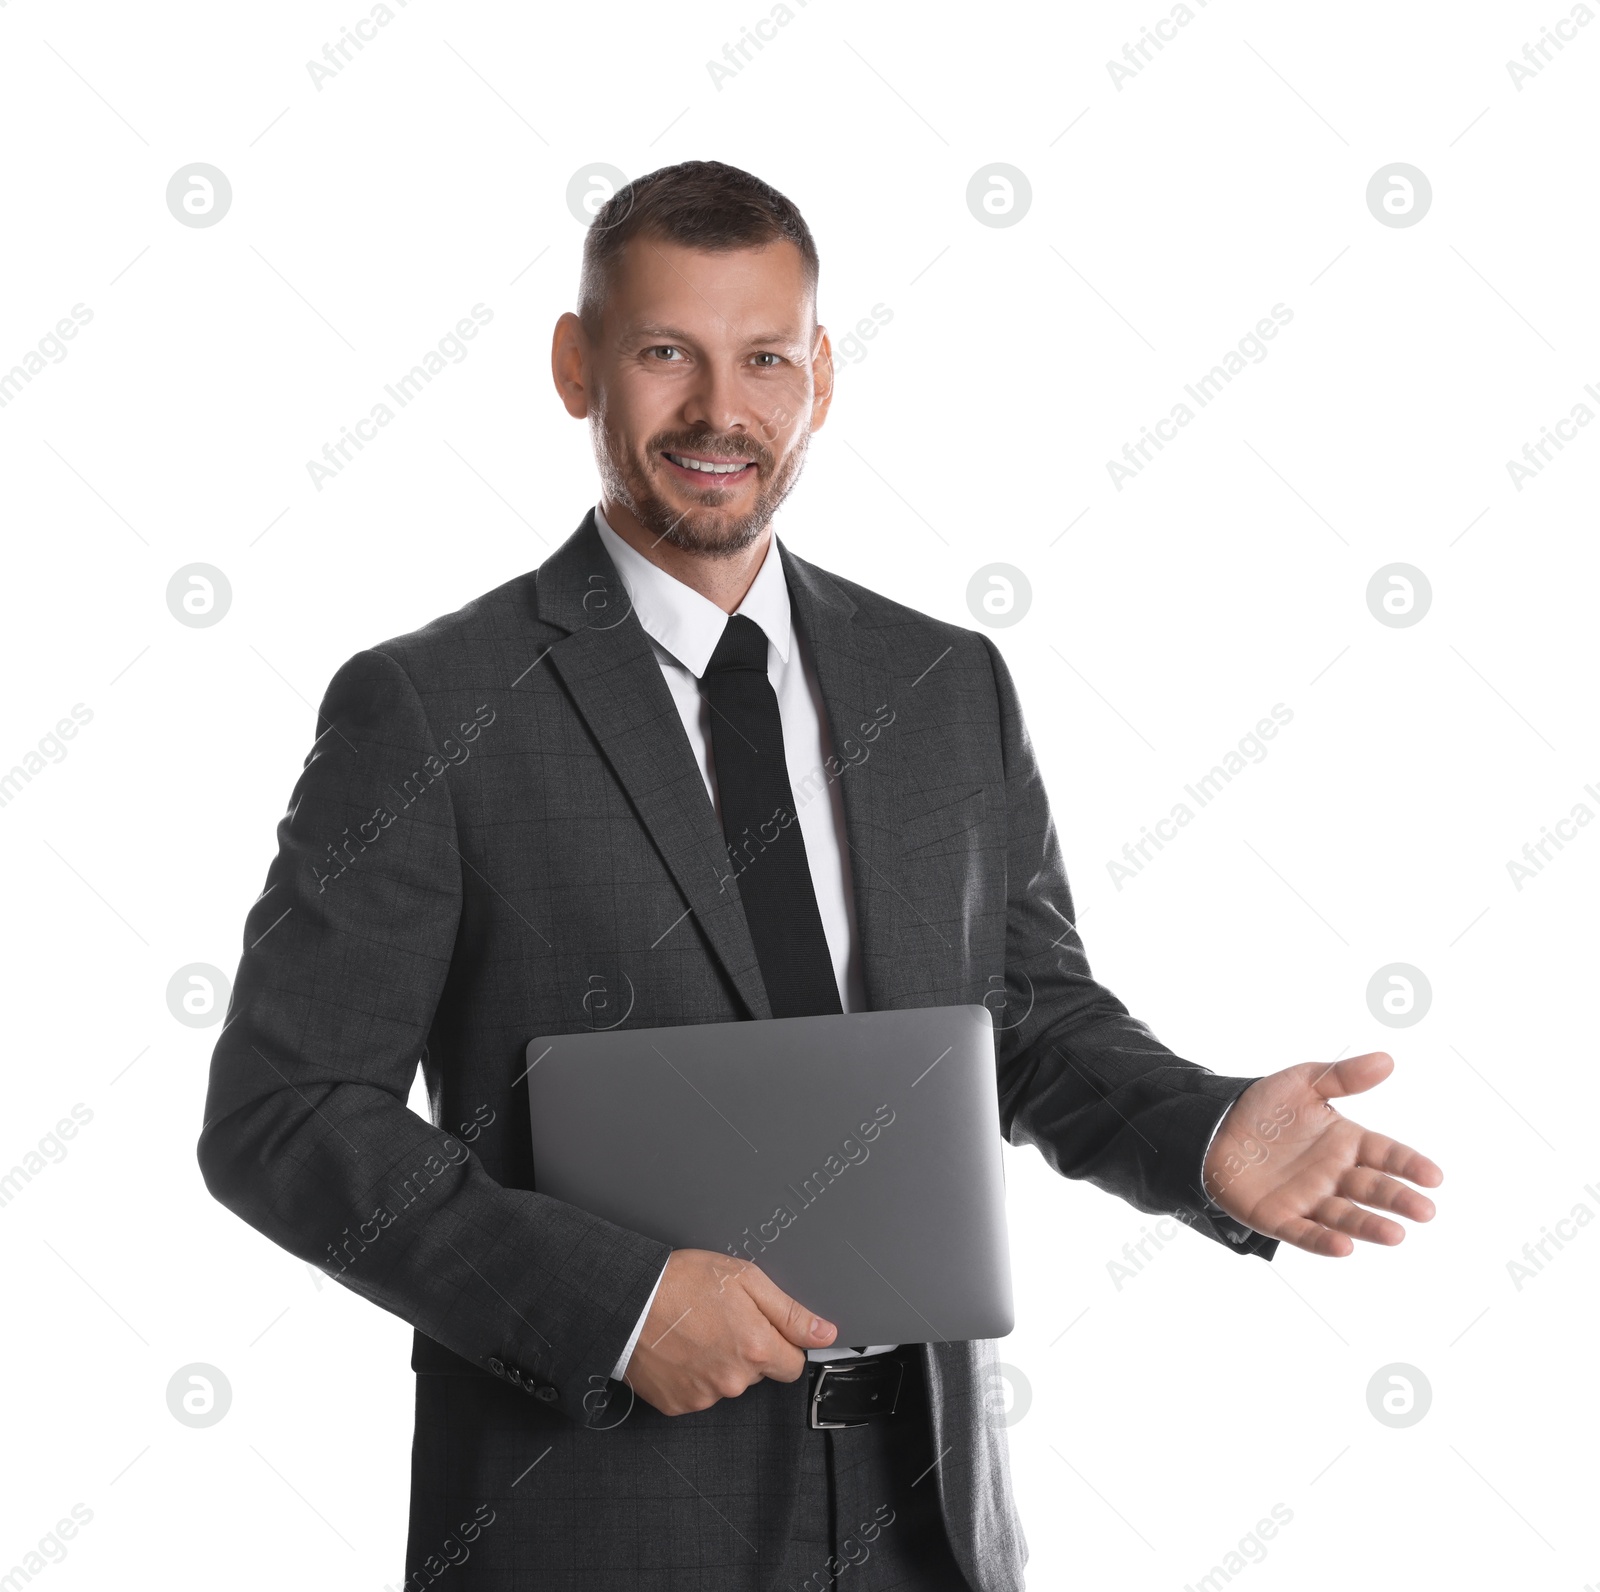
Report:
M 706 250 L 640 234 L 622 248 L 605 318 L 618 334 L 670 325 L 707 341 L 810 334 L 811 283 L 787 238 L 760 248 Z

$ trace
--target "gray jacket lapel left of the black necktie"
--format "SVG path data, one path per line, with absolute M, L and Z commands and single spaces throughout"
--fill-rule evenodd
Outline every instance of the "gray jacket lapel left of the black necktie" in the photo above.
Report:
M 568 634 L 546 653 L 571 693 L 752 1018 L 766 987 L 730 874 L 722 826 L 683 720 L 595 530 L 594 510 L 536 571 L 539 618 Z M 678 928 L 677 933 L 683 930 Z

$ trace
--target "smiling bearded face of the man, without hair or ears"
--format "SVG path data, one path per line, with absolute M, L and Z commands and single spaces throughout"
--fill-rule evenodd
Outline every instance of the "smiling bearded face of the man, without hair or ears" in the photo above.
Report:
M 766 528 L 832 384 L 789 242 L 712 253 L 632 238 L 587 366 L 608 498 L 653 539 L 712 557 L 742 552 Z

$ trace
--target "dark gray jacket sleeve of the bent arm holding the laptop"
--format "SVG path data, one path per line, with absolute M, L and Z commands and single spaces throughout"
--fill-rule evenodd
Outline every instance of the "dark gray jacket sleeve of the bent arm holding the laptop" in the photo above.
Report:
M 317 728 L 211 1056 L 206 1187 L 456 1355 L 597 1424 L 670 1250 L 502 1187 L 406 1106 L 461 915 L 450 763 L 381 651 L 339 669 Z

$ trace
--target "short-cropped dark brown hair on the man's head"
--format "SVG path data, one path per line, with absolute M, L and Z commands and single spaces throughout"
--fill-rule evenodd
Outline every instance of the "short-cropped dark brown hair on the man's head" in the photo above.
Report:
M 794 202 L 738 166 L 685 160 L 634 178 L 595 213 L 584 238 L 578 282 L 578 317 L 590 336 L 600 330 L 611 270 L 635 237 L 702 250 L 762 248 L 787 240 L 800 250 L 813 304 L 816 301 L 816 243 Z

